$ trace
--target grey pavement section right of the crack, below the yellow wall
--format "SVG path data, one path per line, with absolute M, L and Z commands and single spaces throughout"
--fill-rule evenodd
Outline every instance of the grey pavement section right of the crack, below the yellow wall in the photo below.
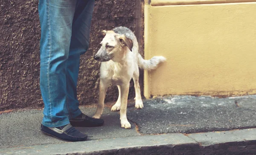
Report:
M 256 127 L 256 95 L 230 98 L 169 96 L 128 108 L 141 134 L 196 133 Z

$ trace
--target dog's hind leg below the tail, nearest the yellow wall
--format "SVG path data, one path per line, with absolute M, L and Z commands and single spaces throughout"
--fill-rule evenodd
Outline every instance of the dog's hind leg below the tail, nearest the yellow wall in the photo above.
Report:
M 140 94 L 140 83 L 139 83 L 139 68 L 135 69 L 134 75 L 132 76 L 132 79 L 134 80 L 134 89 L 135 89 L 135 107 L 137 109 L 142 109 L 143 106 L 143 101 L 141 99 L 141 94 Z

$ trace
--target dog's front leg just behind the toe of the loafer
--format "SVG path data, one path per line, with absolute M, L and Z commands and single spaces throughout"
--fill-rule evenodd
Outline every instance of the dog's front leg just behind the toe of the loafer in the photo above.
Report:
M 108 83 L 103 82 L 102 80 L 100 80 L 99 82 L 99 103 L 97 106 L 97 110 L 93 115 L 93 118 L 100 118 L 100 116 L 102 115 L 103 108 L 104 108 L 104 100 L 105 100 L 105 95 L 106 95 L 108 85 L 109 85 Z

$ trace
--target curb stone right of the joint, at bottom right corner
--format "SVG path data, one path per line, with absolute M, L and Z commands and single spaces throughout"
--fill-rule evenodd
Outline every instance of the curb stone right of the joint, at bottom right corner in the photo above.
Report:
M 197 141 L 207 155 L 256 154 L 256 129 L 193 133 L 188 137 Z

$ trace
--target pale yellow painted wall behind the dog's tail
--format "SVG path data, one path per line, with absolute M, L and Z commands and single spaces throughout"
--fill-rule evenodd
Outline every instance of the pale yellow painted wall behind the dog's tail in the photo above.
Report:
M 256 93 L 256 3 L 157 1 L 145 1 L 145 59 L 167 62 L 145 71 L 146 98 Z

